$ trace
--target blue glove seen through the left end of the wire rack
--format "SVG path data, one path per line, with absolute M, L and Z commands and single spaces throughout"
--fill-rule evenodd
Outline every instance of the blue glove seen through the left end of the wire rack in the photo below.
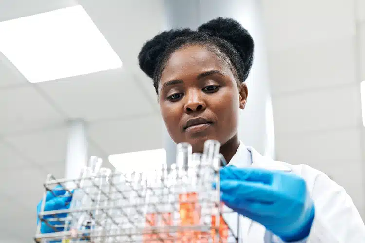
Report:
M 44 206 L 44 211 L 53 211 L 53 210 L 61 210 L 61 209 L 68 209 L 70 207 L 69 202 L 71 201 L 72 196 L 70 195 L 69 192 L 67 192 L 66 190 L 62 189 L 61 186 L 56 186 L 57 189 L 61 189 L 61 190 L 52 190 L 53 193 L 52 194 L 51 191 L 47 191 L 47 195 L 46 195 L 46 204 Z M 73 193 L 73 191 L 71 191 Z M 38 203 L 37 206 L 37 225 L 39 223 L 39 212 L 41 210 L 41 206 L 42 206 L 42 200 L 40 200 L 40 202 Z M 57 216 L 59 218 L 63 218 L 66 217 L 66 214 L 57 214 Z M 52 216 L 44 216 L 44 218 L 52 218 Z M 60 222 L 57 221 L 53 221 L 53 222 L 49 222 L 51 225 L 59 225 Z M 61 222 L 62 223 L 62 222 Z M 52 233 L 55 232 L 55 230 L 48 226 L 45 222 L 41 222 L 41 228 L 40 228 L 40 232 L 41 233 Z M 62 231 L 63 228 L 57 228 L 57 230 Z

